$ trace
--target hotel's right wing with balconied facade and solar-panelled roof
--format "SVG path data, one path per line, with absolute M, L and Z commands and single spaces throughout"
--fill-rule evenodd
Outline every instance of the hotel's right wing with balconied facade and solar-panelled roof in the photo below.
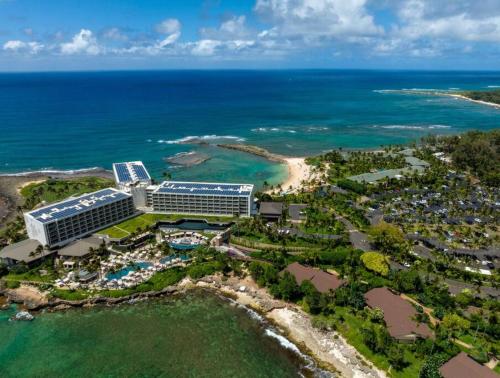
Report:
M 154 213 L 249 217 L 253 189 L 250 184 L 165 181 L 145 189 L 146 205 Z

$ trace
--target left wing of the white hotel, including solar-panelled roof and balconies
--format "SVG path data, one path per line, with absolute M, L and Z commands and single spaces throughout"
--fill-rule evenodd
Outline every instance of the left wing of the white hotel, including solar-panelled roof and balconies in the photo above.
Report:
M 136 214 L 132 196 L 114 188 L 68 198 L 24 214 L 28 236 L 60 247 Z

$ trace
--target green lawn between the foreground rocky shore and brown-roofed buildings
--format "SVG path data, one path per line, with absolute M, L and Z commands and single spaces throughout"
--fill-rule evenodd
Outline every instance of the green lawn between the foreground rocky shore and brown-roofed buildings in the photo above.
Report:
M 365 356 L 369 361 L 373 362 L 375 366 L 388 371 L 390 364 L 387 357 L 372 352 L 363 342 L 361 330 L 363 325 L 368 324 L 369 322 L 354 316 L 347 311 L 347 308 L 344 307 L 335 307 L 335 313 L 337 315 L 342 315 L 345 319 L 344 323 L 338 325 L 338 331 L 346 338 L 348 343 L 354 346 L 356 350 Z M 419 376 L 423 361 L 417 359 L 415 355 L 408 350 L 405 351 L 405 359 L 410 363 L 410 365 L 401 371 L 391 369 L 389 376 L 396 378 Z

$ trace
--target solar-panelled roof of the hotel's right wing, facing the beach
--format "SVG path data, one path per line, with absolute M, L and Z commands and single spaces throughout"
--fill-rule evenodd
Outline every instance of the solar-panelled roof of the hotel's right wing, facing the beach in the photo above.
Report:
M 246 197 L 252 194 L 251 184 L 224 184 L 212 182 L 165 181 L 158 193 Z

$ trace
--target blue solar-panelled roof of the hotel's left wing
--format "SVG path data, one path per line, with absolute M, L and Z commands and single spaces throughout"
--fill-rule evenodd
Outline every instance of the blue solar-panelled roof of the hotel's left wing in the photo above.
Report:
M 130 194 L 120 192 L 114 188 L 107 188 L 80 197 L 70 197 L 62 202 L 53 203 L 26 214 L 39 222 L 49 223 L 129 197 L 131 197 Z

